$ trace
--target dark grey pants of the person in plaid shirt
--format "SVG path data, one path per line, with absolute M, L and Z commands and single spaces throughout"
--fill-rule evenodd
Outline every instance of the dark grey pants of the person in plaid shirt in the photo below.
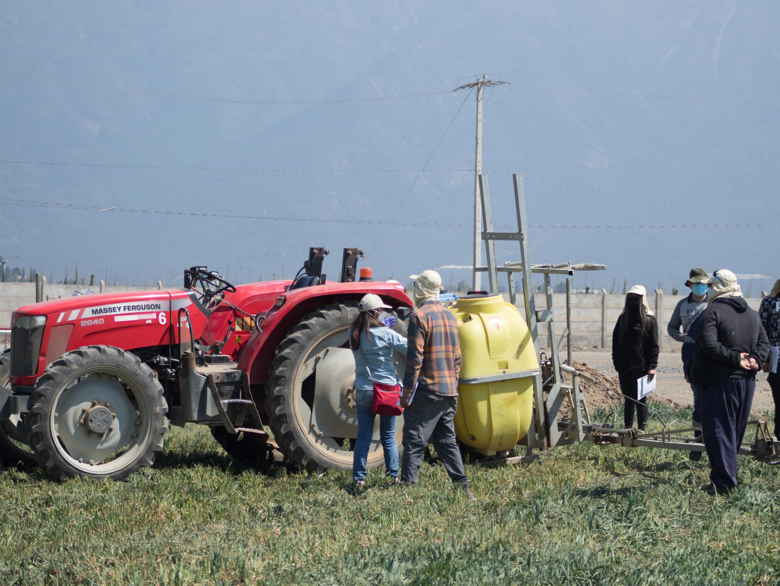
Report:
M 457 408 L 458 398 L 455 396 L 435 395 L 417 389 L 412 404 L 403 412 L 402 482 L 417 484 L 420 463 L 430 440 L 449 478 L 461 485 L 470 485 L 455 438 Z

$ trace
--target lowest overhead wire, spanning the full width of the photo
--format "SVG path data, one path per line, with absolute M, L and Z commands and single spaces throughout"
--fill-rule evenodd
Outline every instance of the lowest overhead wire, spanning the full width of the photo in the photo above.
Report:
M 30 208 L 53 208 L 79 211 L 103 211 L 111 213 L 113 211 L 127 214 L 151 214 L 151 215 L 178 215 L 193 216 L 198 218 L 229 218 L 243 220 L 271 220 L 275 222 L 314 222 L 320 224 L 356 224 L 365 226 L 412 226 L 412 227 L 432 227 L 432 228 L 473 228 L 471 224 L 460 224 L 454 222 L 383 222 L 380 220 L 346 220 L 332 218 L 296 218 L 290 216 L 272 216 L 272 215 L 239 215 L 239 214 L 207 214 L 193 211 L 165 211 L 165 210 L 147 210 L 136 208 L 112 208 L 106 210 L 94 205 L 79 204 L 60 204 L 54 201 L 34 201 L 17 200 L 10 197 L 0 197 L 0 205 L 19 205 Z M 508 224 L 495 224 L 496 228 L 514 228 Z M 780 224 L 700 224 L 700 225 L 672 225 L 672 226 L 615 226 L 615 225 L 543 225 L 532 224 L 530 228 L 537 229 L 777 229 Z

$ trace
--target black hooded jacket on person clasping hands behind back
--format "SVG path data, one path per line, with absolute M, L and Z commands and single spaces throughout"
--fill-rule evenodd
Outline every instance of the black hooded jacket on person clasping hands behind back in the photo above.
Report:
M 758 314 L 742 297 L 716 299 L 701 312 L 690 364 L 694 385 L 710 385 L 729 378 L 756 378 L 755 371 L 739 367 L 739 354 L 746 352 L 758 364 L 769 356 L 767 332 Z

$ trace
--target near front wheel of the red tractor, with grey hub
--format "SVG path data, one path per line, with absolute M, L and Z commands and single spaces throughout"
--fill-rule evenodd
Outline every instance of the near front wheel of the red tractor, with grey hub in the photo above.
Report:
M 119 480 L 154 463 L 167 413 L 160 382 L 136 355 L 83 346 L 38 379 L 27 414 L 30 446 L 56 481 Z

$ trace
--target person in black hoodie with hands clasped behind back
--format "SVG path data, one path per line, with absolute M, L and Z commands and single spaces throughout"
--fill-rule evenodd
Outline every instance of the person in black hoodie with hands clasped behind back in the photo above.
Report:
M 736 276 L 725 269 L 711 279 L 710 300 L 697 324 L 690 381 L 699 386 L 704 447 L 710 460 L 707 492 L 739 485 L 736 456 L 753 407 L 756 371 L 769 341 L 756 311 L 748 307 Z

